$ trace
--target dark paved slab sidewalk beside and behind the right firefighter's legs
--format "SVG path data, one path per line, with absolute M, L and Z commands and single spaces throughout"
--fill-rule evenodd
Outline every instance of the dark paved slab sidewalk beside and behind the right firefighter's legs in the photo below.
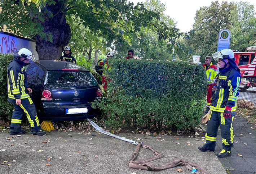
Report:
M 255 174 L 256 126 L 248 123 L 246 119 L 240 116 L 235 116 L 233 128 L 235 137 L 234 148 L 231 150 L 232 155 L 226 158 L 219 158 L 219 161 L 231 174 Z M 215 153 L 217 154 L 222 149 L 220 129 L 216 143 Z

